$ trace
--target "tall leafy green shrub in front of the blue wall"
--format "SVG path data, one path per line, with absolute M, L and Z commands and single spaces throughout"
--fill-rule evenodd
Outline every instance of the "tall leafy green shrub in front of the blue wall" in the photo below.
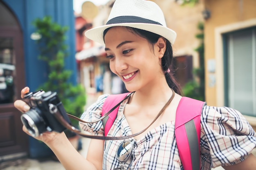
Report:
M 86 102 L 85 89 L 81 85 L 72 85 L 69 82 L 72 70 L 65 69 L 65 58 L 68 56 L 68 46 L 65 43 L 68 26 L 53 22 L 49 16 L 36 18 L 32 25 L 36 28 L 35 32 L 42 36 L 36 40 L 40 51 L 38 59 L 46 62 L 48 67 L 48 79 L 38 88 L 57 92 L 67 113 L 79 117 Z M 72 124 L 77 126 L 78 122 L 72 121 Z

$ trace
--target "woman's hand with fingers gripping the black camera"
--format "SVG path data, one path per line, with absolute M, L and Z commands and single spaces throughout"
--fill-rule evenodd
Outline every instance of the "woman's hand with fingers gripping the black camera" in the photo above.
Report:
M 28 93 L 28 92 L 29 92 L 29 87 L 23 88 L 23 89 L 21 90 L 21 98 L 24 98 L 24 95 L 25 95 L 26 93 Z M 30 109 L 29 105 L 27 105 L 27 103 L 25 103 L 25 102 L 22 101 L 22 100 L 16 100 L 16 101 L 14 102 L 14 106 L 15 106 L 19 111 L 21 111 L 22 113 L 25 113 L 25 112 L 29 111 L 29 109 Z M 23 125 L 23 127 L 22 127 L 22 130 L 23 130 L 25 133 L 27 133 L 28 135 L 32 136 L 24 125 Z M 64 133 L 64 132 L 63 132 L 63 133 Z M 41 141 L 45 142 L 46 144 L 49 144 L 49 143 L 53 142 L 54 139 L 56 139 L 58 136 L 64 137 L 65 134 L 46 131 L 45 133 L 41 134 L 40 136 L 34 137 L 34 138 L 36 138 L 36 139 L 38 139 L 38 140 L 41 140 Z

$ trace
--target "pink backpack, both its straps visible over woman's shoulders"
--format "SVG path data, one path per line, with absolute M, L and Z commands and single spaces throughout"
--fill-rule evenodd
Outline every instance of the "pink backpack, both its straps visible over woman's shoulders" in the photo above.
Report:
M 103 109 L 109 111 L 128 93 L 112 94 L 103 104 Z M 188 97 L 182 97 L 177 107 L 175 118 L 175 137 L 180 159 L 184 170 L 200 169 L 200 116 L 205 102 Z M 119 106 L 115 108 L 103 121 L 105 136 L 114 123 Z M 102 114 L 104 116 L 105 113 Z

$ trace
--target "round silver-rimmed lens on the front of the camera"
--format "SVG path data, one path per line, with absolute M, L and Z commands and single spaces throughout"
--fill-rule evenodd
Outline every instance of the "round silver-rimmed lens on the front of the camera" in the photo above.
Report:
M 29 133 L 34 137 L 39 136 L 47 130 L 45 121 L 40 116 L 40 111 L 36 109 L 30 109 L 26 113 L 23 113 L 20 119 Z

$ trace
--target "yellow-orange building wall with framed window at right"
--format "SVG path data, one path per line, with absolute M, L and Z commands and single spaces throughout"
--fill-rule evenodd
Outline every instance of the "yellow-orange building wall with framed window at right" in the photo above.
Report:
M 256 1 L 204 0 L 206 101 L 256 127 Z

